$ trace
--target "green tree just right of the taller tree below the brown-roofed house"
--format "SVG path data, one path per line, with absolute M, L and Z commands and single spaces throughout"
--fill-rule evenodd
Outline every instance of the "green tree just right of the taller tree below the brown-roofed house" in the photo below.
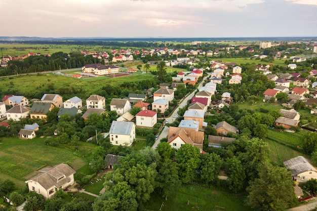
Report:
M 206 183 L 215 182 L 222 166 L 222 159 L 215 153 L 206 153 L 201 155 L 201 161 L 202 180 Z

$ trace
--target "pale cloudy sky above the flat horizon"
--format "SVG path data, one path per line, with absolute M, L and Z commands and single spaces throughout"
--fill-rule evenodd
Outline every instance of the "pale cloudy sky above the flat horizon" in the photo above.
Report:
M 317 36 L 317 0 L 4 0 L 0 8 L 0 36 Z

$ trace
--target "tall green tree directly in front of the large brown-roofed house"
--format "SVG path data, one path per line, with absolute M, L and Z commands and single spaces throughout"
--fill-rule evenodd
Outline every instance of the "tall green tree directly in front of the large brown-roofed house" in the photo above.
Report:
M 200 167 L 200 150 L 190 144 L 182 145 L 176 153 L 179 166 L 179 177 L 183 183 L 190 183 L 196 178 L 196 170 Z

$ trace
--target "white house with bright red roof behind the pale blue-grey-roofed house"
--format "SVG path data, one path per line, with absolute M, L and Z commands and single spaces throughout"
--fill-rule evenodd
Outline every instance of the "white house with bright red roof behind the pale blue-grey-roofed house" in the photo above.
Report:
M 136 115 L 136 126 L 140 128 L 153 128 L 157 122 L 157 112 L 151 110 L 143 110 Z

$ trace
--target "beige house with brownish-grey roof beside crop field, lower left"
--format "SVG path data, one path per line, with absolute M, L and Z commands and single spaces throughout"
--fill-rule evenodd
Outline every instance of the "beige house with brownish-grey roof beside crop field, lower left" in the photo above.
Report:
M 75 173 L 69 165 L 61 163 L 38 170 L 38 175 L 25 183 L 29 191 L 35 191 L 48 199 L 52 198 L 59 189 L 65 190 L 72 186 L 75 182 Z

